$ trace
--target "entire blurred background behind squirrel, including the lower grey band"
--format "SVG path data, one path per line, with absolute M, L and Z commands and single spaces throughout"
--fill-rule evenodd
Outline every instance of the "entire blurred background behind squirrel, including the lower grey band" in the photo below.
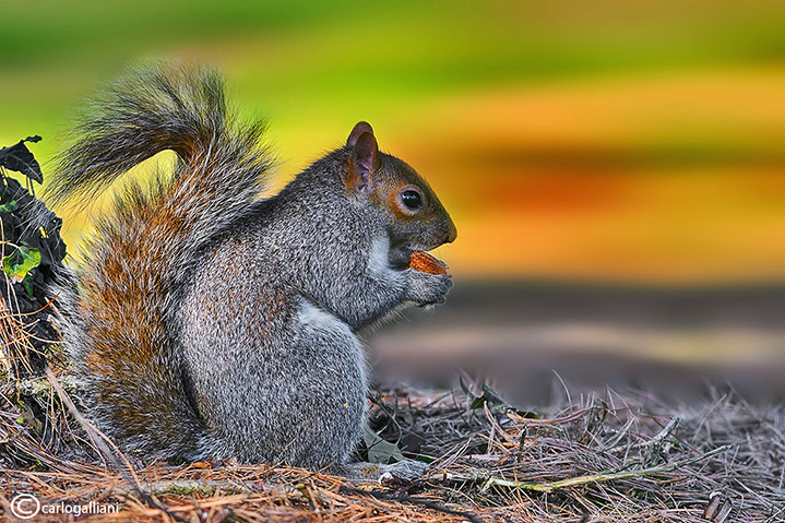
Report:
M 73 109 L 143 60 L 223 69 L 269 119 L 276 187 L 370 121 L 459 227 L 438 252 L 449 304 L 376 334 L 382 375 L 466 364 L 522 401 L 554 371 L 785 394 L 783 2 L 40 1 L 3 19 L 0 144 L 44 136 L 45 176 Z M 90 217 L 64 219 L 73 251 Z

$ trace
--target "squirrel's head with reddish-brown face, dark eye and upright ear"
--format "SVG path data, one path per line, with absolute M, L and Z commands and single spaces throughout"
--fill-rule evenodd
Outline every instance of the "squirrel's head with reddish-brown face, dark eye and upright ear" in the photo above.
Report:
M 455 224 L 428 182 L 405 162 L 380 153 L 370 124 L 357 123 L 346 145 L 352 151 L 343 173 L 346 192 L 365 195 L 382 212 L 393 266 L 406 266 L 414 251 L 455 240 Z

